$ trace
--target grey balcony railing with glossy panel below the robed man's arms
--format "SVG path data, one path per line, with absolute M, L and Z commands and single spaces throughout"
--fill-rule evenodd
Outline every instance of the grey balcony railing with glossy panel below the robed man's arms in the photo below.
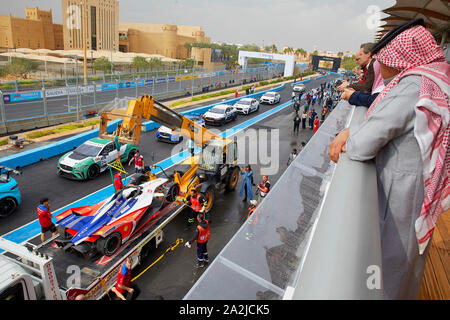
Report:
M 364 111 L 338 104 L 184 299 L 383 298 L 374 165 L 327 154 Z

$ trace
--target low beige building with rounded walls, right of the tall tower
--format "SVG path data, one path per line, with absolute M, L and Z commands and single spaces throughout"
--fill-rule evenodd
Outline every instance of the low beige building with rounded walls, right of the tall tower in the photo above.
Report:
M 198 66 L 208 67 L 211 49 L 185 47 L 186 43 L 211 43 L 199 26 L 172 24 L 119 23 L 119 44 L 122 52 L 160 54 L 172 59 L 195 59 Z

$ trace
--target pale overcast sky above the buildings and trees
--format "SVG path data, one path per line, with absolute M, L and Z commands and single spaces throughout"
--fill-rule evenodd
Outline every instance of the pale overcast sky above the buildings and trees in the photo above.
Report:
M 62 23 L 61 0 L 3 1 L 0 14 L 24 17 L 24 7 L 52 9 Z M 120 21 L 199 25 L 211 41 L 319 50 L 355 51 L 373 41 L 370 6 L 395 0 L 121 0 Z M 373 11 L 372 11 L 373 12 Z M 373 14 L 373 13 L 372 13 Z M 382 14 L 382 17 L 385 15 Z

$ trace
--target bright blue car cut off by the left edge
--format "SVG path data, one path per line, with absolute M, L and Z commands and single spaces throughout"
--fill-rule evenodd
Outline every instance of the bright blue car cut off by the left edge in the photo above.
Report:
M 19 185 L 10 177 L 11 173 L 20 174 L 17 170 L 0 166 L 0 218 L 11 215 L 22 201 Z

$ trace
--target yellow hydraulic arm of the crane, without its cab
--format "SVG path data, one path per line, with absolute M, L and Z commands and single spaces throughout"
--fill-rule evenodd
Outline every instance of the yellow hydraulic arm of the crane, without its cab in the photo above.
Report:
M 118 125 L 117 130 L 110 134 L 106 128 L 108 122 L 115 119 L 123 119 L 123 121 L 121 125 Z M 117 140 L 120 143 L 138 145 L 141 135 L 142 119 L 153 120 L 172 130 L 180 131 L 183 137 L 191 139 L 195 145 L 200 147 L 203 147 L 211 140 L 221 141 L 223 145 L 231 142 L 215 135 L 198 123 L 155 101 L 152 96 L 147 95 L 138 99 L 131 99 L 126 111 L 113 109 L 102 112 L 100 137 L 111 141 Z

